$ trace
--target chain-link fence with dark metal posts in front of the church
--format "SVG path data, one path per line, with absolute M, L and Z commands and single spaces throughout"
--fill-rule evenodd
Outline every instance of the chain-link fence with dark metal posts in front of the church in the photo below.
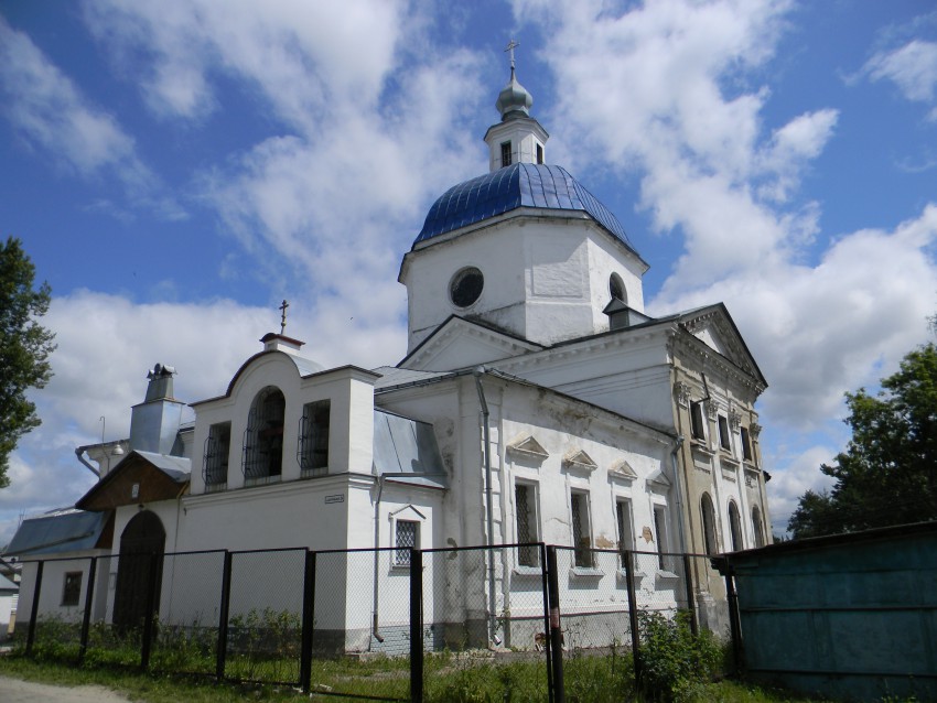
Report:
M 639 650 L 654 623 L 740 640 L 731 582 L 704 555 L 286 549 L 53 559 L 24 573 L 26 653 L 379 700 L 421 700 L 453 670 L 505 661 L 562 700 L 564 657 Z

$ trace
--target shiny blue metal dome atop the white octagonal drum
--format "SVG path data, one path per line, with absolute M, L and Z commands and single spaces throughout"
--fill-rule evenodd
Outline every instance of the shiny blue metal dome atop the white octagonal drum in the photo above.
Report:
M 514 163 L 449 188 L 433 203 L 413 244 L 518 207 L 585 212 L 634 251 L 618 219 L 566 169 L 536 163 Z

